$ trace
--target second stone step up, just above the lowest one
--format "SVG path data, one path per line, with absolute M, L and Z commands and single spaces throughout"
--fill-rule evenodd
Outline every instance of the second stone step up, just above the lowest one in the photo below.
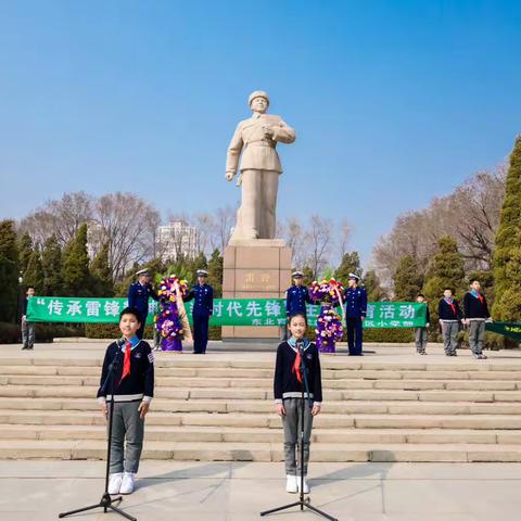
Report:
M 0 440 L 105 440 L 100 425 L 3 425 Z M 282 430 L 255 428 L 147 425 L 151 442 L 282 443 Z M 313 443 L 504 444 L 521 445 L 521 432 L 432 429 L 314 429 Z

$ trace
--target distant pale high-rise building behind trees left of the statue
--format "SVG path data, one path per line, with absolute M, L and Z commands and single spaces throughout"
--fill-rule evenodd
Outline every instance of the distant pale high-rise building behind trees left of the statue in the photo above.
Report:
M 157 227 L 156 249 L 163 262 L 179 257 L 195 258 L 198 255 L 198 230 L 185 220 L 171 220 Z

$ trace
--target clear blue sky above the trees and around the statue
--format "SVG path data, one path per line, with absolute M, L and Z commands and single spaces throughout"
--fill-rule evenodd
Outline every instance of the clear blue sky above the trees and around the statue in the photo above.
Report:
M 395 217 L 494 167 L 520 131 L 521 2 L 0 0 L 0 218 L 65 191 L 234 205 L 247 94 L 297 132 L 279 215 Z

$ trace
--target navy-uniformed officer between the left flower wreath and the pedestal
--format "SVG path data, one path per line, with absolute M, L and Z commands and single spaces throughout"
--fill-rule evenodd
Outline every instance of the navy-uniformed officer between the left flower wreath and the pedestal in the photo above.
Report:
M 195 298 L 193 304 L 193 353 L 203 355 L 208 343 L 208 322 L 214 313 L 214 289 L 206 282 L 208 272 L 198 269 L 198 283 L 183 297 L 185 302 Z

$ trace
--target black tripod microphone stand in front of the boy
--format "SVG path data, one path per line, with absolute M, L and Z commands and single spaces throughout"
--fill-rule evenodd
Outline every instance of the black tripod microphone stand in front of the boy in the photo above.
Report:
M 105 381 L 103 382 L 103 385 L 101 386 L 102 393 L 104 394 L 106 391 L 106 387 L 109 386 L 109 383 L 111 384 L 111 394 L 112 394 L 112 399 L 110 402 L 110 407 L 109 407 L 109 436 L 106 440 L 106 469 L 105 469 L 105 492 L 101 496 L 100 503 L 97 503 L 96 505 L 90 505 L 88 507 L 82 507 L 78 508 L 76 510 L 71 510 L 68 512 L 63 512 L 59 514 L 59 518 L 66 518 L 68 516 L 73 516 L 75 513 L 79 512 L 86 512 L 87 510 L 93 510 L 94 508 L 103 508 L 103 512 L 106 513 L 107 510 L 112 510 L 119 516 L 123 516 L 126 519 L 129 519 L 130 521 L 138 521 L 137 518 L 134 518 L 132 516 L 129 516 L 127 512 L 124 512 L 116 506 L 114 506 L 114 503 L 120 503 L 123 500 L 122 496 L 114 497 L 109 494 L 109 474 L 110 474 L 110 468 L 111 468 L 111 441 L 112 441 L 112 425 L 113 425 L 113 420 L 114 420 L 114 391 L 116 390 L 116 385 L 114 382 L 114 377 L 117 373 L 117 369 L 119 367 L 119 358 L 122 357 L 122 344 L 120 341 L 117 341 L 117 352 L 116 356 L 114 357 L 114 360 L 112 364 L 109 366 L 109 374 L 106 376 Z

